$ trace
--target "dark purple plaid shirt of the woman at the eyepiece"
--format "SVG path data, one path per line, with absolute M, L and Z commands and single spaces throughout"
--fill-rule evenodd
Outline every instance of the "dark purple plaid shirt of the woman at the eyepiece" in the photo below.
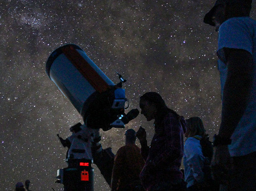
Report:
M 150 147 L 142 145 L 141 154 L 146 159 L 146 164 L 140 178 L 148 191 L 157 190 L 166 182 L 177 184 L 181 181 L 180 165 L 184 152 L 185 124 L 182 116 L 168 112 L 163 120 L 155 125 L 155 135 Z

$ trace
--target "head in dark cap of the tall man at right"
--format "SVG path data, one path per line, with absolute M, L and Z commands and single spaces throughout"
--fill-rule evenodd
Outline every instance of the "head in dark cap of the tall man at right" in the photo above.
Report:
M 219 26 L 229 18 L 249 16 L 252 0 L 217 0 L 213 8 L 204 16 L 204 23 Z

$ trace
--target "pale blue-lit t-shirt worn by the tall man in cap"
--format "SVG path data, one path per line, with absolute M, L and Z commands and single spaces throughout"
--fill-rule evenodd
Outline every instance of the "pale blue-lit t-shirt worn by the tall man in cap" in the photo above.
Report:
M 223 22 L 219 28 L 217 54 L 220 59 L 218 69 L 222 95 L 227 76 L 224 47 L 250 52 L 254 63 L 252 72 L 256 79 L 256 21 L 250 17 L 233 17 Z M 249 99 L 245 113 L 231 136 L 232 143 L 228 147 L 231 156 L 243 156 L 256 151 L 256 80 L 253 80 Z

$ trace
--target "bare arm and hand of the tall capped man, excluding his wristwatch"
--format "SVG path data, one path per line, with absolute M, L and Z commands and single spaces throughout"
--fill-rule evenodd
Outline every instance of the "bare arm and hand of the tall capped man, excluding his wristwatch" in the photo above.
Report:
M 224 48 L 228 67 L 222 98 L 222 119 L 218 136 L 228 140 L 243 116 L 253 82 L 252 55 L 242 49 Z M 212 172 L 215 180 L 227 184 L 231 159 L 228 145 L 214 148 Z

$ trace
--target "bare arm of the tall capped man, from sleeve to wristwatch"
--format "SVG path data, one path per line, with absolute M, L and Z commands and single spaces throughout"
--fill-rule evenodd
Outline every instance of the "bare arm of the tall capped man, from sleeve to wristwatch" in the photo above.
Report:
M 238 125 L 251 91 L 253 82 L 253 57 L 242 49 L 224 48 L 227 78 L 222 98 L 222 121 L 219 136 L 230 139 Z

